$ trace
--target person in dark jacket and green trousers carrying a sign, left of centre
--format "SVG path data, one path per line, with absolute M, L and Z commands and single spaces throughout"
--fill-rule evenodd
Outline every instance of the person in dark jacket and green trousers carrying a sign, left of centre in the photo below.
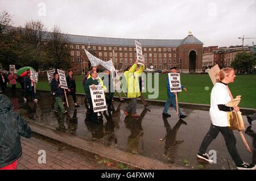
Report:
M 66 113 L 67 110 L 65 110 L 63 103 L 62 103 L 63 96 L 64 96 L 64 90 L 61 89 L 61 87 L 60 87 L 59 74 L 54 73 L 53 77 L 54 78 L 51 81 L 52 94 L 53 94 L 53 96 L 55 96 L 55 105 L 54 105 L 53 111 L 58 112 L 60 109 L 61 113 Z

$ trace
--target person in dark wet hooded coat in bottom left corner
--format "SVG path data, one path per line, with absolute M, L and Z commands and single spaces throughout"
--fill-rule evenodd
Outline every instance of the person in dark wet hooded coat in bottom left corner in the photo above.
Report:
M 20 136 L 30 138 L 32 132 L 24 119 L 13 111 L 11 100 L 0 95 L 0 170 L 15 170 L 22 155 Z

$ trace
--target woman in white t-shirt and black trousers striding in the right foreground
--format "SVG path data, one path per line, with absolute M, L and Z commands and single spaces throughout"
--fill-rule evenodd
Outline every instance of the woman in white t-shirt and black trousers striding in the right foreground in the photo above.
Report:
M 234 73 L 233 68 L 224 68 L 216 74 L 217 83 L 213 86 L 210 94 L 210 120 L 212 121 L 212 124 L 210 125 L 210 130 L 201 143 L 197 157 L 204 159 L 209 163 L 213 163 L 213 160 L 209 157 L 206 151 L 210 143 L 218 136 L 218 133 L 221 132 L 226 142 L 229 154 L 236 163 L 237 169 L 255 170 L 256 167 L 254 164 L 249 164 L 242 161 L 236 148 L 236 137 L 234 136 L 233 131 L 228 128 L 228 112 L 236 112 L 240 110 L 239 107 L 233 108 L 225 106 L 225 104 L 232 99 L 230 97 L 231 95 L 229 94 L 227 85 L 234 82 L 234 78 L 236 77 Z

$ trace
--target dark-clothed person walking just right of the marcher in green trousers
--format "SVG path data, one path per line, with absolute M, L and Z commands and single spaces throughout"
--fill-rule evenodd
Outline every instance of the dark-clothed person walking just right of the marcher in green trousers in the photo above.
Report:
M 79 107 L 79 105 L 76 102 L 76 81 L 75 81 L 75 77 L 73 77 L 72 69 L 68 70 L 68 75 L 66 76 L 66 79 L 68 84 L 67 96 L 72 95 L 73 101 L 75 103 L 75 107 Z M 65 98 L 64 98 L 64 102 L 65 102 Z

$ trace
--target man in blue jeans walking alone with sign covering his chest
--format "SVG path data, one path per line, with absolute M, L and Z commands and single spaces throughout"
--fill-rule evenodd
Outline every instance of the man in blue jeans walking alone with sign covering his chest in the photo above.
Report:
M 171 68 L 171 72 L 172 73 L 177 73 L 177 68 L 174 66 Z M 171 92 L 170 91 L 170 82 L 169 82 L 169 77 L 167 77 L 167 82 L 166 82 L 166 87 L 167 87 L 167 95 L 168 95 L 168 98 L 166 100 L 166 104 L 164 104 L 164 110 L 163 110 L 163 117 L 171 117 L 170 114 L 167 113 L 168 111 L 168 108 L 172 105 L 174 106 L 174 109 L 177 110 L 176 108 L 176 95 L 177 95 L 177 92 Z M 187 89 L 181 85 L 181 89 L 187 91 Z M 183 119 L 185 117 L 187 117 L 187 115 L 183 115 L 183 113 L 181 113 L 181 110 L 180 110 L 180 107 L 179 107 L 179 104 L 178 104 L 178 110 L 179 110 L 179 117 L 180 119 Z

